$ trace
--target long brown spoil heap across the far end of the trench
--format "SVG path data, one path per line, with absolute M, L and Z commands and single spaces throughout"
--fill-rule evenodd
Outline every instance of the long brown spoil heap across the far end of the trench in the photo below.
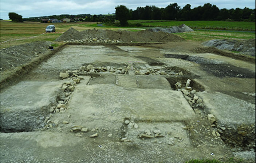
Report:
M 104 30 L 104 29 L 88 29 L 78 32 L 74 28 L 68 29 L 60 35 L 55 41 L 69 41 L 71 39 L 81 40 L 88 38 L 102 38 L 119 40 L 121 42 L 176 42 L 184 41 L 185 39 L 165 32 L 153 32 L 150 29 L 131 32 L 127 30 Z

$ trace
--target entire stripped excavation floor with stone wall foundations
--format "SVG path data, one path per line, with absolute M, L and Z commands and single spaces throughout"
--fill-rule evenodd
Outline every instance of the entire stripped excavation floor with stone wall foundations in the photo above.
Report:
M 1 91 L 1 162 L 255 162 L 255 64 L 66 45 Z

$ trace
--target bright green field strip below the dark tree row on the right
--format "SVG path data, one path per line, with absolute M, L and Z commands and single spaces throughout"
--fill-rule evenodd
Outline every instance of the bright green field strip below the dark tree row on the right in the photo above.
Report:
M 134 22 L 135 23 L 135 22 Z M 165 22 L 142 22 L 143 26 L 169 27 L 186 24 L 193 29 L 224 29 L 224 30 L 249 30 L 255 31 L 255 22 L 237 21 L 165 21 Z

